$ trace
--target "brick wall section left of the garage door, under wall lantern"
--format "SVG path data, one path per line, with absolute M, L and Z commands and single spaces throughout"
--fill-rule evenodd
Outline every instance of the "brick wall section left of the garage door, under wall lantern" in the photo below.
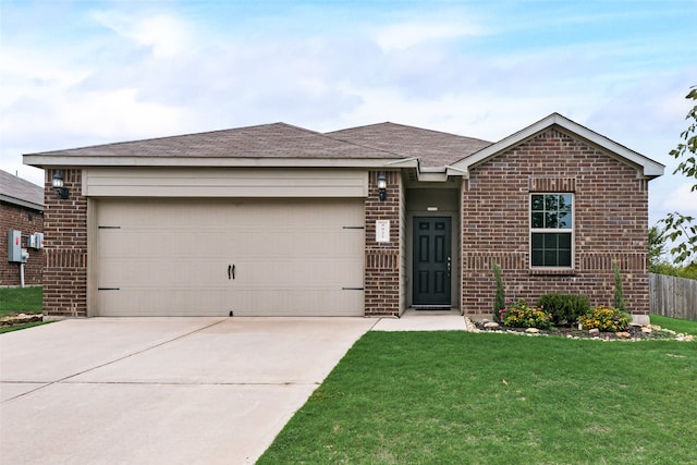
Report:
M 44 194 L 44 315 L 87 316 L 87 198 L 82 196 L 82 171 L 61 170 L 70 198 L 51 187 L 56 170 L 46 170 Z

